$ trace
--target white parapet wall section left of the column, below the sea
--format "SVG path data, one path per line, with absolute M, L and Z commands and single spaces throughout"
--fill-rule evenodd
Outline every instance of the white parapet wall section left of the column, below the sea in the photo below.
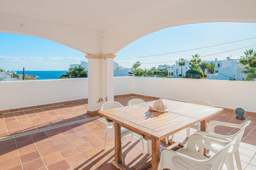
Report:
M 0 110 L 88 98 L 88 79 L 0 82 Z

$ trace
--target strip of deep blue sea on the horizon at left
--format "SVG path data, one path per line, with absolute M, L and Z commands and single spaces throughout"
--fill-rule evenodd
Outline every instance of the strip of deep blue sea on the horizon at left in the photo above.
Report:
M 25 71 L 27 75 L 33 75 L 38 80 L 59 79 L 67 71 Z M 23 71 L 17 71 L 17 74 L 23 74 Z

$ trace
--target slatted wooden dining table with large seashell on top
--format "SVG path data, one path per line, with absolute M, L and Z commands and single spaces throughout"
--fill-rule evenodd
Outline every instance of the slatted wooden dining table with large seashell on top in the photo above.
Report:
M 197 122 L 201 122 L 201 131 L 206 130 L 206 119 L 223 111 L 222 108 L 191 104 L 181 101 L 163 99 L 168 112 L 149 110 L 155 101 L 118 107 L 99 111 L 108 122 L 114 122 L 115 128 L 115 159 L 112 164 L 119 169 L 139 169 L 151 162 L 152 170 L 158 168 L 160 161 L 160 141 Z M 151 157 L 140 161 L 138 165 L 128 167 L 122 162 L 121 126 L 151 140 Z M 184 145 L 168 140 L 168 149 L 184 147 Z M 206 149 L 204 150 L 206 154 Z

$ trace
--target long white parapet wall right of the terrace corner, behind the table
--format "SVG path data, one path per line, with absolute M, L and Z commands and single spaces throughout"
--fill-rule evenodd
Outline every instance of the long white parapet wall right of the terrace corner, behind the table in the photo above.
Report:
M 205 100 L 214 106 L 256 112 L 256 82 L 133 77 L 133 93 L 180 101 Z

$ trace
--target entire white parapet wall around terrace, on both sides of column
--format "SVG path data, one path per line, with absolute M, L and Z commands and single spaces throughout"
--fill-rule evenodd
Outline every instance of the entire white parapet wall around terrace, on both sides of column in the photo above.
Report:
M 161 77 L 114 77 L 114 95 L 141 94 L 256 112 L 256 82 Z M 0 110 L 88 98 L 88 79 L 0 82 Z

